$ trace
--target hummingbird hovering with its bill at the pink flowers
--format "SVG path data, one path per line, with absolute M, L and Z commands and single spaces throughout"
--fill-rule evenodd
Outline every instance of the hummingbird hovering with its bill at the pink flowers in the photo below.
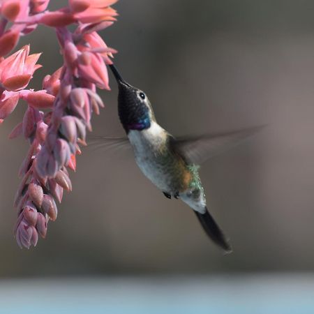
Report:
M 119 86 L 119 119 L 128 138 L 107 140 L 128 141 L 143 174 L 165 197 L 181 199 L 188 204 L 209 238 L 226 253 L 230 253 L 232 248 L 227 238 L 207 209 L 199 165 L 214 154 L 252 135 L 260 127 L 216 136 L 175 138 L 157 123 L 144 91 L 123 80 L 114 65 L 110 68 Z

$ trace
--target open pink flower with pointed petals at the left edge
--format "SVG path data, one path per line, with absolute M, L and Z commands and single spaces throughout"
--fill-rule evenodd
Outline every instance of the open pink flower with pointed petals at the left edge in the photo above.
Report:
M 29 45 L 22 47 L 0 63 L 0 82 L 8 91 L 19 91 L 29 84 L 33 73 L 40 68 L 36 64 L 40 54 L 29 55 Z

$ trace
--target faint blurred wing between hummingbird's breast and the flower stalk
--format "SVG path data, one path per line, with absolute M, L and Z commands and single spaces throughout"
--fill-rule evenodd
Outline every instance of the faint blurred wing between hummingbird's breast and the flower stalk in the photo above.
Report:
M 115 149 L 128 149 L 131 150 L 128 137 L 107 137 L 107 136 L 90 136 L 87 139 L 88 147 L 94 150 L 115 150 Z

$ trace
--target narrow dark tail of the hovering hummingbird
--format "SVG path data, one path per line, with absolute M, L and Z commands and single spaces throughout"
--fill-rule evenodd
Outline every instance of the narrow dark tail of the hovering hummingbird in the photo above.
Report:
M 220 248 L 223 248 L 225 253 L 231 253 L 232 247 L 228 243 L 223 232 L 220 230 L 220 227 L 218 227 L 214 218 L 211 214 L 209 214 L 209 211 L 206 211 L 205 214 L 200 214 L 198 211 L 195 211 L 195 214 L 211 240 L 214 241 L 214 243 Z

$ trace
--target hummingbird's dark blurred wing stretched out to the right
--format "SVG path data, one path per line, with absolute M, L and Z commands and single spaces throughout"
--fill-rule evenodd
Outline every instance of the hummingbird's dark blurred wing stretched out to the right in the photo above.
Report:
M 227 133 L 217 133 L 201 135 L 195 137 L 176 137 L 172 140 L 173 147 L 176 151 L 186 158 L 188 163 L 200 165 L 212 156 L 230 149 L 239 142 L 255 135 L 264 126 L 255 126 L 234 130 Z

